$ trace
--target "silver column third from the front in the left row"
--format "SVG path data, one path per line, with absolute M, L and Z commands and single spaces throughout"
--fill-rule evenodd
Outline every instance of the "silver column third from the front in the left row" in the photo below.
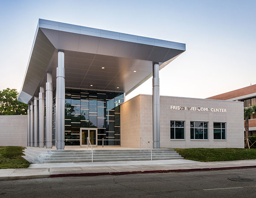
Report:
M 40 86 L 39 98 L 38 98 L 38 146 L 44 147 L 44 87 Z

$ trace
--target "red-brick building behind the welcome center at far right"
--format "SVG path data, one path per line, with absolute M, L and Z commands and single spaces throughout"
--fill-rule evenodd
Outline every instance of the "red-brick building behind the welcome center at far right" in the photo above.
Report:
M 244 102 L 244 107 L 256 105 L 256 85 L 229 91 L 208 99 L 230 100 Z M 249 119 L 249 136 L 256 136 L 256 113 L 252 113 Z

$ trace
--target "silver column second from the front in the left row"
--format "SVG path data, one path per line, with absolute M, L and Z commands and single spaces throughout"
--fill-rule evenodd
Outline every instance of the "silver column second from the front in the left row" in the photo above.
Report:
M 46 83 L 45 147 L 52 148 L 52 74 L 47 73 Z

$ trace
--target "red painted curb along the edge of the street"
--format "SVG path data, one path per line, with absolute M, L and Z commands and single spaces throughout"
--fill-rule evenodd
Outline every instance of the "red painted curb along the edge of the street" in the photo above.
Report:
M 193 172 L 193 171 L 209 171 L 209 170 L 230 170 L 230 169 L 246 169 L 256 168 L 256 165 L 236 166 L 236 167 L 212 167 L 212 168 L 191 168 L 191 169 L 172 169 L 172 170 L 137 170 L 122 172 L 101 172 L 101 173 L 63 173 L 52 174 L 50 177 L 78 177 L 78 176 L 98 176 L 98 175 L 128 175 L 141 173 L 177 173 L 177 172 Z

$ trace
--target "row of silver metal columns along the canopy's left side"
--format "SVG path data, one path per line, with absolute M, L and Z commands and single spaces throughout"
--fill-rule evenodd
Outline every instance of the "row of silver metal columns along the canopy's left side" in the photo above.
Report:
M 47 73 L 46 89 L 40 86 L 38 96 L 30 101 L 28 107 L 27 145 L 30 147 L 52 148 L 53 98 L 52 74 Z M 45 96 L 44 96 L 45 95 Z M 58 52 L 56 75 L 56 148 L 64 149 L 65 131 L 65 70 L 64 52 Z M 45 100 L 45 107 L 44 107 Z M 45 124 L 44 124 L 45 112 Z M 45 133 L 44 133 L 45 131 Z M 44 136 L 45 134 L 45 136 Z M 44 144 L 45 143 L 45 144 Z

